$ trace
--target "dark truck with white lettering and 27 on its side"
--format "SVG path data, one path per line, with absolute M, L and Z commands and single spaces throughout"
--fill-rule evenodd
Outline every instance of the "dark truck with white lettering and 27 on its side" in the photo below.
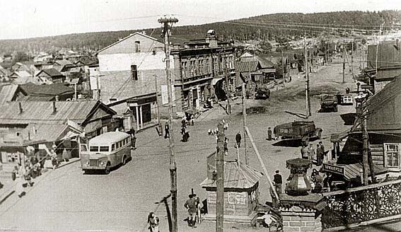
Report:
M 313 121 L 294 121 L 279 124 L 274 127 L 274 134 L 281 139 L 302 139 L 308 141 L 310 138 L 322 136 L 322 129 L 315 126 Z

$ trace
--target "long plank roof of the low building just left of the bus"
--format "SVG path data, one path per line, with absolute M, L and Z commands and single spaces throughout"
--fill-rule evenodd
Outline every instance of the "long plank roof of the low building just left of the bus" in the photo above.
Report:
M 108 108 L 100 101 L 58 101 L 55 102 L 57 112 L 53 113 L 53 102 L 22 102 L 20 113 L 19 105 L 21 102 L 6 103 L 0 107 L 1 123 L 43 123 L 63 124 L 66 120 L 73 120 L 82 124 L 88 117 L 91 117 L 95 110 L 103 108 L 110 115 L 116 112 Z

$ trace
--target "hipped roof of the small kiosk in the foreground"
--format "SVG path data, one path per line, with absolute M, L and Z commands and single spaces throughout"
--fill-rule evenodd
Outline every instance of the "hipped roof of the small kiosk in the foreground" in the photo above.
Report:
M 224 187 L 236 189 L 248 189 L 253 187 L 262 178 L 262 173 L 248 165 L 237 162 L 224 163 Z M 202 187 L 216 187 L 215 180 L 204 180 Z

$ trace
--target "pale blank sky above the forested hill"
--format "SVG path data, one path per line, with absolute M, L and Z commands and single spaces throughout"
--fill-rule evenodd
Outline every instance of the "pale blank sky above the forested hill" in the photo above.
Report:
M 396 9 L 400 0 L 0 0 L 0 40 L 156 28 L 166 14 L 179 26 L 269 13 Z

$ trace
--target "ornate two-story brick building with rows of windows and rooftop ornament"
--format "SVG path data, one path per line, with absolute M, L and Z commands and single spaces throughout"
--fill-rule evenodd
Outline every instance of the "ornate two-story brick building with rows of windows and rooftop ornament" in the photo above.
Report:
M 226 91 L 235 92 L 235 48 L 231 42 L 217 40 L 214 30 L 209 30 L 205 39 L 175 46 L 171 54 L 177 67 L 177 110 L 193 112 L 208 98 L 225 99 Z

